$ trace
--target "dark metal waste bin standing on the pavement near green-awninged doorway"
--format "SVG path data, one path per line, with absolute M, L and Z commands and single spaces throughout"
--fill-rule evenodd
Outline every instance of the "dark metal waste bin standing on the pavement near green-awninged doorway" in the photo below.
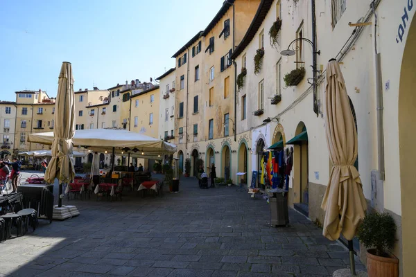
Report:
M 270 224 L 272 226 L 286 226 L 289 224 L 288 191 L 281 188 L 268 190 L 270 203 Z

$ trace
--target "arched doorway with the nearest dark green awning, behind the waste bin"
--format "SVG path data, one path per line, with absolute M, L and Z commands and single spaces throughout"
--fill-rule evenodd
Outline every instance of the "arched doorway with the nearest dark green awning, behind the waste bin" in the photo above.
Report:
M 293 145 L 293 204 L 298 211 L 309 215 L 309 145 L 303 122 L 297 125 L 295 136 L 286 144 Z

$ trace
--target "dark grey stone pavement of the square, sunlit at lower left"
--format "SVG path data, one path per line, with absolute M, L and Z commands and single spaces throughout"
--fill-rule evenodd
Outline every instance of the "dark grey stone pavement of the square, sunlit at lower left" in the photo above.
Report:
M 291 210 L 290 226 L 274 228 L 263 199 L 181 182 L 164 197 L 69 201 L 78 217 L 40 220 L 0 243 L 0 276 L 331 276 L 347 267 L 347 249 L 303 215 Z

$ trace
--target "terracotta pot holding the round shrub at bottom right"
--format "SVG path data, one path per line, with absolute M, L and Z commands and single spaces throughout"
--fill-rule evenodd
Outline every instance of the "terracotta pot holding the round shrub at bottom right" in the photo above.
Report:
M 398 277 L 399 260 L 395 257 L 374 255 L 376 249 L 367 250 L 367 273 L 369 277 Z

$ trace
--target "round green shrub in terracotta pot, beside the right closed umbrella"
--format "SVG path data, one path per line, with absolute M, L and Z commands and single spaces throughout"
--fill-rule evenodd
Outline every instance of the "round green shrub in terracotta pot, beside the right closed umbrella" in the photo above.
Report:
M 388 253 L 395 245 L 397 226 L 388 213 L 367 215 L 358 227 L 357 237 L 367 248 L 369 277 L 399 276 L 399 260 Z

